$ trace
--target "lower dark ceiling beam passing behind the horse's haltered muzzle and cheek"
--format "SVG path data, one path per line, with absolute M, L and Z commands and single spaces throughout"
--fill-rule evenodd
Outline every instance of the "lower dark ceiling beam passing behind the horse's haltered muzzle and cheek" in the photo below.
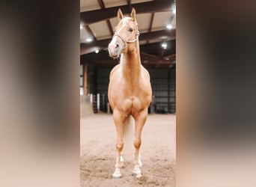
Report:
M 154 40 L 154 39 L 165 39 L 165 40 L 175 40 L 176 30 L 171 31 L 153 31 L 142 33 L 139 36 L 139 40 Z M 94 40 L 92 43 L 80 43 L 80 55 L 85 55 L 90 52 L 94 52 L 95 49 L 105 49 L 110 42 L 111 38 L 106 40 Z

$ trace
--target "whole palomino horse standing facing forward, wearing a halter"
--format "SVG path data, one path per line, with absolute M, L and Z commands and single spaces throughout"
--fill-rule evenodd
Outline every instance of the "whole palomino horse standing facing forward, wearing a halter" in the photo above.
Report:
M 147 108 L 152 98 L 150 76 L 141 65 L 135 9 L 132 8 L 131 17 L 124 17 L 119 9 L 118 19 L 120 22 L 115 27 L 115 34 L 109 43 L 109 55 L 112 58 L 120 58 L 120 64 L 110 73 L 108 93 L 117 132 L 117 157 L 113 178 L 121 177 L 121 151 L 125 142 L 125 126 L 132 126 L 127 123 L 130 116 L 135 120 L 135 159 L 132 174 L 141 177 L 139 148 L 141 132 L 147 120 Z

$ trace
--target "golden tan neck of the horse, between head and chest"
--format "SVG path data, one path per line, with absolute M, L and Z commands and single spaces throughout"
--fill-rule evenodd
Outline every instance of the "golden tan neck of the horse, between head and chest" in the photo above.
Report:
M 141 58 L 137 44 L 133 52 L 123 53 L 120 59 L 121 71 L 124 78 L 136 81 L 141 73 Z M 130 79 L 132 77 L 132 79 Z

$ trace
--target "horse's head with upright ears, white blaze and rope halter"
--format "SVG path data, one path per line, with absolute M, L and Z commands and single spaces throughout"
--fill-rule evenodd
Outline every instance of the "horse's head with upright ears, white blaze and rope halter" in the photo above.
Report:
M 131 17 L 124 17 L 118 10 L 119 23 L 115 27 L 115 34 L 109 43 L 109 55 L 118 58 L 121 52 L 132 52 L 138 40 L 138 26 L 135 19 L 135 9 L 132 8 Z

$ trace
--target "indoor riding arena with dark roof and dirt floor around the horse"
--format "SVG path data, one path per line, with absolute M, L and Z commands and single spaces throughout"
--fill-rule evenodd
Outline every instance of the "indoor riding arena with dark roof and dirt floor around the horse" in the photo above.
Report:
M 118 9 L 138 23 L 135 52 L 150 75 L 152 99 L 141 135 L 141 177 L 132 175 L 133 141 L 124 144 L 121 177 L 116 165 L 117 132 L 109 103 L 109 75 L 120 58 L 109 56 L 118 35 Z M 124 26 L 122 27 L 124 28 Z M 120 35 L 120 34 L 119 34 Z M 120 37 L 118 35 L 118 37 Z M 124 46 L 131 45 L 120 37 Z M 118 39 L 119 40 L 119 39 Z M 118 46 L 118 45 L 117 45 Z M 123 47 L 124 48 L 124 47 Z M 122 53 L 125 53 L 122 51 Z M 125 55 L 125 54 L 122 54 Z M 133 75 L 133 74 L 132 74 Z M 134 121 L 132 124 L 134 128 Z M 134 134 L 133 134 L 134 135 Z M 175 1 L 80 0 L 80 183 L 81 186 L 175 186 L 176 178 Z

